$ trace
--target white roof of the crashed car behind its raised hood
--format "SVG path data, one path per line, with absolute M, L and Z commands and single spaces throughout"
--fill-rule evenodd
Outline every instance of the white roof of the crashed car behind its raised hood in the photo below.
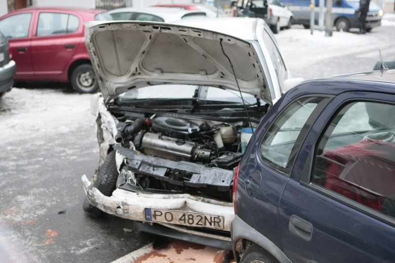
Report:
M 245 40 L 257 39 L 255 29 L 258 23 L 264 23 L 264 21 L 260 18 L 252 17 L 218 17 L 172 22 L 172 24 L 221 32 Z

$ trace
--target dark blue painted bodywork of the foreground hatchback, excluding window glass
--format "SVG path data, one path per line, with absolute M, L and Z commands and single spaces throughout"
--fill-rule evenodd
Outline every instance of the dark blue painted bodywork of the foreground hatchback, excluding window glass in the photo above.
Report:
M 259 146 L 280 113 L 308 96 L 324 97 L 322 107 L 309 118 L 311 127 L 292 169 L 283 173 L 265 163 Z M 238 170 L 232 225 L 236 258 L 236 244 L 244 239 L 279 262 L 394 261 L 395 218 L 311 183 L 317 141 L 339 109 L 356 100 L 395 104 L 395 70 L 305 81 L 263 117 Z

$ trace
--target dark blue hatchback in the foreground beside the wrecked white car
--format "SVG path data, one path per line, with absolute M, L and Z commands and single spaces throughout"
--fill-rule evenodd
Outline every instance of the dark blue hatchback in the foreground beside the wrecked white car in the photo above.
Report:
M 291 89 L 236 176 L 237 262 L 394 262 L 395 70 Z

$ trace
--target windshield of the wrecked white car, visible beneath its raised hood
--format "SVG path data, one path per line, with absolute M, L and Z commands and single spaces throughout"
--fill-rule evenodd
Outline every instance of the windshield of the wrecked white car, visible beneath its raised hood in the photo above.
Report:
M 247 104 L 256 104 L 257 101 L 253 95 L 244 92 L 242 92 L 241 95 Z M 147 99 L 200 99 L 206 101 L 242 103 L 240 93 L 235 90 L 183 84 L 148 86 L 122 93 L 117 97 L 118 103 L 122 101 Z M 261 103 L 264 104 L 263 101 L 261 101 Z

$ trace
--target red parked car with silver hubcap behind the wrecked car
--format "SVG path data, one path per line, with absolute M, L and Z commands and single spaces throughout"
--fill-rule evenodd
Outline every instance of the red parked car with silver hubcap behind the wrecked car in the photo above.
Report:
M 92 20 L 112 18 L 106 10 L 83 8 L 24 8 L 0 17 L 16 62 L 14 80 L 70 82 L 78 92 L 96 92 L 83 25 Z

